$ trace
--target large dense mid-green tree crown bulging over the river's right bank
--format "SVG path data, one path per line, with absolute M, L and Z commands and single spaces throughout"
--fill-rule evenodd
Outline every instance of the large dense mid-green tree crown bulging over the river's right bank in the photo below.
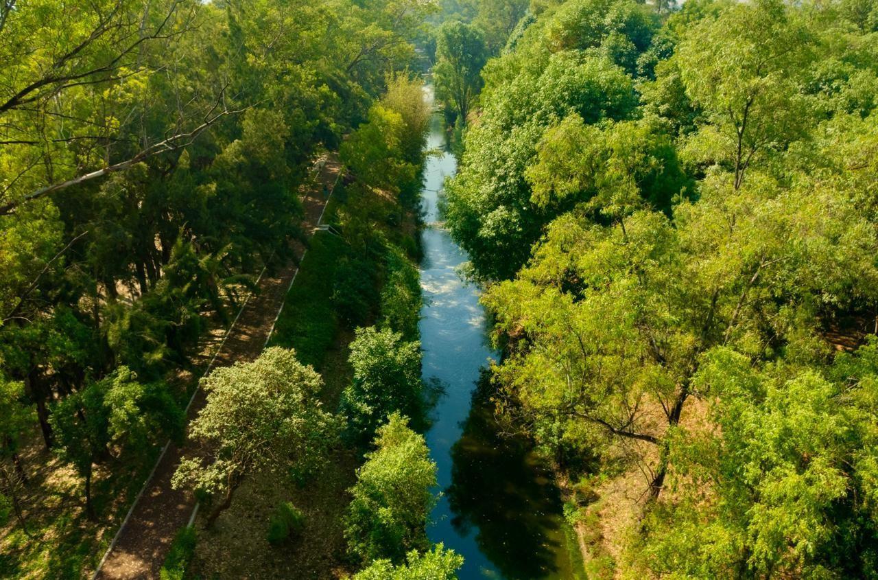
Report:
M 637 96 L 625 67 L 649 46 L 656 26 L 634 2 L 568 2 L 486 66 L 484 112 L 466 136 L 444 207 L 451 235 L 468 251 L 478 278 L 512 277 L 543 227 L 570 208 L 533 203 L 525 174 L 537 161 L 537 147 L 572 115 L 587 124 L 631 116 Z M 630 47 L 624 54 L 620 43 Z

